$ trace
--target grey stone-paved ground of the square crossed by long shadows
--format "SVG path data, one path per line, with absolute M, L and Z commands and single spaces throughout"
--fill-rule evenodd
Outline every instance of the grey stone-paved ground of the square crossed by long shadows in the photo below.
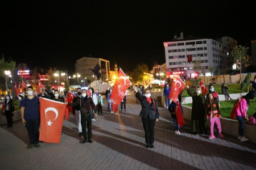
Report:
M 81 144 L 76 120 L 64 120 L 60 143 L 43 143 L 27 150 L 26 128 L 0 127 L 0 169 L 255 169 L 256 146 L 225 139 L 209 140 L 190 133 L 189 122 L 175 135 L 168 109 L 159 108 L 155 147 L 146 148 L 140 104 L 127 95 L 127 112 L 99 115 L 93 122 L 93 143 Z

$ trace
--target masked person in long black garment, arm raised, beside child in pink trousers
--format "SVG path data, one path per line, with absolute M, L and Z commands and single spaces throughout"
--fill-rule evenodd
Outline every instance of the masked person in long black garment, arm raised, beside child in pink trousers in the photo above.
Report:
M 197 86 L 196 90 L 187 86 L 188 95 L 192 97 L 191 112 L 191 131 L 196 135 L 207 134 L 205 125 L 205 95 L 201 92 L 201 87 Z

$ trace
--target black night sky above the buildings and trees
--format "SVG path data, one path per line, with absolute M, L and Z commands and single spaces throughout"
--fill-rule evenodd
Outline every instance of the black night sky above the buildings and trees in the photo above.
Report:
M 1 2 L 1 46 L 5 57 L 28 67 L 75 73 L 76 59 L 100 57 L 123 71 L 138 63 L 164 63 L 164 41 L 183 31 L 238 45 L 256 39 L 253 1 L 72 1 Z

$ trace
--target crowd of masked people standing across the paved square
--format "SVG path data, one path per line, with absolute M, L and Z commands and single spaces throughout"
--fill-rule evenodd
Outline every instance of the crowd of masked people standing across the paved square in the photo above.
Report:
M 254 99 L 255 89 L 256 89 L 256 76 L 254 77 L 254 83 L 252 84 L 253 91 L 249 92 L 245 96 L 239 97 L 234 104 L 232 109 L 232 118 L 237 118 L 239 122 L 238 129 L 238 139 L 241 142 L 248 141 L 249 139 L 245 137 L 243 134 L 243 118 L 248 120 L 248 116 L 246 114 L 248 105 L 250 105 L 251 100 Z M 180 135 L 180 126 L 177 121 L 175 108 L 177 103 L 170 100 L 170 84 L 166 83 L 163 90 L 163 95 L 165 97 L 165 107 L 171 113 L 171 117 L 174 121 L 174 133 Z M 225 83 L 222 83 L 221 91 L 222 94 L 225 95 L 225 100 L 233 100 L 228 94 L 228 87 Z M 113 88 L 109 87 L 106 90 L 106 101 L 108 105 L 108 111 L 110 113 L 114 113 L 117 110 L 113 105 L 113 101 L 111 99 Z M 159 120 L 159 111 L 157 101 L 152 99 L 150 88 L 144 89 L 142 85 L 133 86 L 133 91 L 135 94 L 136 103 L 141 104 L 141 112 L 139 116 L 142 118 L 142 124 L 145 135 L 146 147 L 154 147 L 154 129 L 155 123 Z M 218 131 L 218 138 L 224 138 L 221 130 L 221 107 L 220 100 L 218 97 L 218 92 L 214 91 L 214 84 L 209 85 L 209 91 L 207 94 L 203 94 L 201 87 L 196 86 L 195 88 L 189 88 L 187 86 L 188 95 L 192 97 L 192 113 L 191 113 L 191 132 L 195 135 L 207 134 L 207 121 L 210 124 L 210 134 L 209 139 L 214 139 L 216 136 L 214 135 L 214 126 L 216 126 Z M 121 112 L 126 112 L 126 94 L 121 101 Z M 181 107 L 182 114 L 183 109 L 181 105 L 181 96 L 183 91 L 180 92 L 177 101 L 179 102 L 179 106 Z M 19 98 L 19 108 L 20 114 L 22 118 L 22 122 L 25 125 L 28 137 L 30 139 L 30 145 L 27 148 L 40 147 L 39 145 L 39 97 L 43 97 L 46 99 L 51 99 L 54 101 L 59 101 L 61 103 L 66 103 L 72 106 L 73 117 L 76 118 L 77 121 L 77 130 L 79 133 L 79 137 L 83 137 L 84 140 L 81 143 L 92 143 L 92 122 L 96 121 L 97 114 L 102 114 L 102 106 L 104 105 L 104 99 L 98 90 L 94 91 L 93 88 L 88 88 L 88 90 L 77 88 L 75 92 L 75 96 L 73 98 L 72 103 L 65 102 L 65 98 L 63 95 L 54 88 L 51 91 L 47 91 L 47 89 L 43 88 L 40 94 L 36 94 L 32 86 L 27 87 L 27 92 L 22 92 Z M 66 96 L 67 97 L 67 93 Z M 11 99 L 10 95 L 5 96 L 5 100 L 3 103 L 2 112 L 6 116 L 7 119 L 7 128 L 11 128 L 13 126 L 13 112 L 14 112 L 14 102 Z

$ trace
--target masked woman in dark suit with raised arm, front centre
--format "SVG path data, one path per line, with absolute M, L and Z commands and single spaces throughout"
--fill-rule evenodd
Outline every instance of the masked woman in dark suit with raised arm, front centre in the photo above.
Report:
M 142 109 L 139 116 L 142 118 L 146 148 L 153 148 L 155 141 L 155 122 L 158 122 L 159 120 L 158 104 L 156 100 L 151 98 L 149 89 L 144 90 L 144 96 L 140 94 L 134 85 L 133 90 L 136 93 L 138 100 L 141 101 Z

